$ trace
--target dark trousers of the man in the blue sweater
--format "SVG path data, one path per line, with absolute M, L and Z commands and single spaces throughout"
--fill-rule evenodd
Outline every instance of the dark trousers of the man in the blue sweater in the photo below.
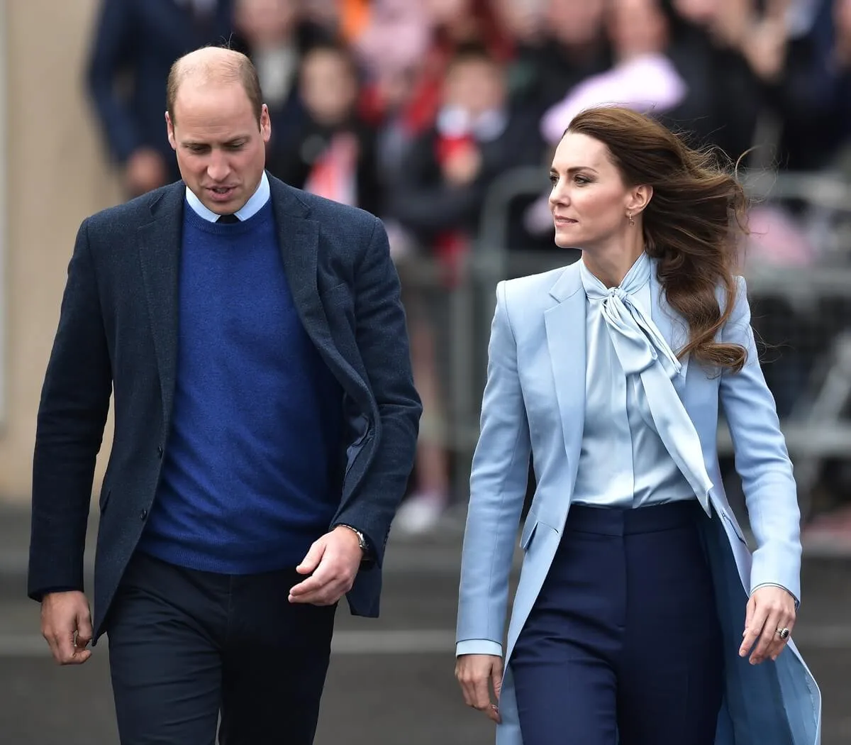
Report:
M 122 745 L 311 745 L 333 606 L 295 570 L 228 576 L 136 553 L 106 622 Z

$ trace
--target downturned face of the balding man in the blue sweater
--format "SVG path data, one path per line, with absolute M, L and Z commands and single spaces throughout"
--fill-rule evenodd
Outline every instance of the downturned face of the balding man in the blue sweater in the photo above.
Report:
M 217 215 L 236 212 L 260 184 L 271 136 L 269 111 L 260 123 L 238 81 L 200 83 L 187 79 L 166 113 L 168 141 L 180 175 L 201 203 Z

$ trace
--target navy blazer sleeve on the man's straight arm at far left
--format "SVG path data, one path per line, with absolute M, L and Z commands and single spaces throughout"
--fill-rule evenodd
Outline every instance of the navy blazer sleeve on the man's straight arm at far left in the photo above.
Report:
M 28 576 L 33 599 L 60 587 L 83 589 L 94 463 L 111 382 L 88 222 L 83 222 L 38 406 Z

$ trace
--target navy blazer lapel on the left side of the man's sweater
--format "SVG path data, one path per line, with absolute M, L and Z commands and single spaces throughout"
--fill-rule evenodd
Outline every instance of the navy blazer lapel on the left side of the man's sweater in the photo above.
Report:
M 171 424 L 177 368 L 178 281 L 185 189 L 183 183 L 178 182 L 163 192 L 151 205 L 154 220 L 140 226 L 137 235 L 167 432 Z

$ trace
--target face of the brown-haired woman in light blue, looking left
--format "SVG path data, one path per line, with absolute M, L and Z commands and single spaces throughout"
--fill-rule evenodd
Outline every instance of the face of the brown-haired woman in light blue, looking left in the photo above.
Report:
M 626 186 L 608 147 L 568 132 L 552 158 L 550 209 L 556 245 L 593 249 L 629 229 L 627 213 L 647 202 L 647 186 Z

